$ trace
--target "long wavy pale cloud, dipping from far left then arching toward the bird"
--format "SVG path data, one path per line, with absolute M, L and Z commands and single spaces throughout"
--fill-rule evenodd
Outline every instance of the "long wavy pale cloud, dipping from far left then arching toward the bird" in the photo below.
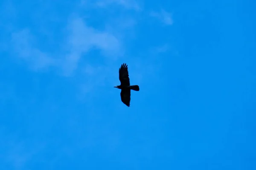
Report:
M 36 47 L 36 37 L 32 36 L 29 29 L 12 34 L 15 55 L 28 62 L 34 70 L 55 66 L 68 76 L 76 70 L 81 57 L 91 49 L 98 49 L 103 56 L 111 59 L 122 54 L 121 43 L 115 36 L 87 26 L 80 17 L 72 18 L 67 28 L 66 41 L 62 42 L 63 49 L 57 49 L 57 55 L 63 57 L 57 59 Z

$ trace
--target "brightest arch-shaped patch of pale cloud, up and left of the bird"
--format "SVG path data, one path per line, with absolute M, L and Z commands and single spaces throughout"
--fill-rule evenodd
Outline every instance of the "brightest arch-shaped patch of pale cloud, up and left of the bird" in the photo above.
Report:
M 122 52 L 121 43 L 115 36 L 87 26 L 79 17 L 71 20 L 68 28 L 70 30 L 67 38 L 69 53 L 64 63 L 66 74 L 75 70 L 82 55 L 92 48 L 101 50 L 105 56 L 111 56 L 112 59 Z

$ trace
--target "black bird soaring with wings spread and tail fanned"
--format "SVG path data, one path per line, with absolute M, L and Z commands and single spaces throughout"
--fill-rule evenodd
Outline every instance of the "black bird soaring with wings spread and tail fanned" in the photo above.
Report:
M 121 82 L 120 85 L 115 86 L 114 88 L 121 89 L 121 101 L 130 107 L 131 101 L 131 90 L 140 91 L 140 87 L 138 85 L 130 85 L 129 73 L 128 73 L 128 65 L 123 63 L 119 68 L 119 80 Z

